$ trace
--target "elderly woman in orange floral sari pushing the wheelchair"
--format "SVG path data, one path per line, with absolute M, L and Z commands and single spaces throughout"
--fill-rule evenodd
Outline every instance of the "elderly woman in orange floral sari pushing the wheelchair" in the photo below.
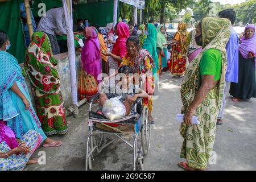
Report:
M 127 65 L 131 67 L 133 73 L 138 73 L 138 75 L 141 76 L 143 81 L 142 90 L 148 94 L 147 98 L 143 98 L 142 104 L 143 106 L 148 106 L 148 109 L 150 110 L 150 123 L 154 124 L 154 119 L 152 117 L 153 102 L 151 98 L 155 90 L 155 75 L 152 74 L 152 68 L 155 68 L 154 60 L 146 49 L 141 49 L 139 38 L 137 36 L 130 36 L 127 39 L 126 48 L 127 53 L 123 57 L 119 68 Z M 118 70 L 109 77 L 105 77 L 104 80 L 109 80 L 111 77 L 117 75 Z

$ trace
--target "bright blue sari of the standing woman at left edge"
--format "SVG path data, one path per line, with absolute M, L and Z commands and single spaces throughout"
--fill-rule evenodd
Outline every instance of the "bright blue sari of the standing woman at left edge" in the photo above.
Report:
M 15 83 L 30 102 L 28 110 L 25 109 L 22 99 L 11 90 Z M 32 107 L 30 94 L 18 61 L 6 51 L 0 51 L 0 119 L 7 121 L 8 126 L 16 134 L 16 138 L 22 138 L 29 130 L 37 131 L 43 140 L 47 138 Z

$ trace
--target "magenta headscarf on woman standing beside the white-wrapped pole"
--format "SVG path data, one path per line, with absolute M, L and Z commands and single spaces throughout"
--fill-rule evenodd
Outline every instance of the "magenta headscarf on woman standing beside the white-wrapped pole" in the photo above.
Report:
M 82 63 L 84 71 L 96 78 L 101 73 L 101 51 L 100 41 L 92 27 L 86 27 L 86 40 L 82 47 Z M 99 79 L 98 82 L 101 80 Z

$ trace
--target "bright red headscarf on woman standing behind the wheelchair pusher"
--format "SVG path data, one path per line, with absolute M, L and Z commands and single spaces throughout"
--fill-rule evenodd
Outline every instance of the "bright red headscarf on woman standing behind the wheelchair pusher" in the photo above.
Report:
M 126 23 L 119 22 L 117 24 L 117 35 L 118 39 L 113 46 L 112 53 L 122 59 L 126 55 L 126 40 L 130 36 L 130 30 Z

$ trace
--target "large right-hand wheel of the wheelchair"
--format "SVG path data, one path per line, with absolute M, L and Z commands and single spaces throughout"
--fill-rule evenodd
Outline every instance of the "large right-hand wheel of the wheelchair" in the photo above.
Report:
M 150 112 L 146 106 L 142 112 L 143 129 L 141 131 L 143 155 L 147 155 L 150 148 Z

